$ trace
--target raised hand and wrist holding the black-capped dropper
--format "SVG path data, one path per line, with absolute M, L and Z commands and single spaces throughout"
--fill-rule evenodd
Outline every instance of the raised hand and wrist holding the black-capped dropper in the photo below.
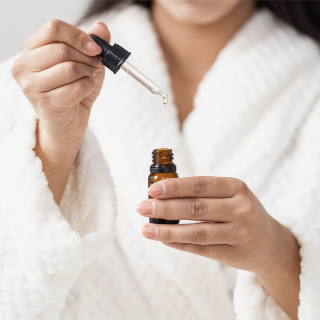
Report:
M 50 20 L 27 40 L 11 67 L 39 118 L 34 150 L 58 204 L 104 79 L 101 48 L 89 33 L 110 42 L 104 23 L 94 23 L 87 34 Z

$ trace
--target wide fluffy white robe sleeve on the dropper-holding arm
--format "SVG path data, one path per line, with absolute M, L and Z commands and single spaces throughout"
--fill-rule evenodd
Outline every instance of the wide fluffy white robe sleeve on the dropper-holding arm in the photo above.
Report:
M 114 185 L 93 133 L 59 207 L 32 150 L 36 122 L 27 113 L 0 149 L 1 320 L 58 320 L 81 270 L 115 235 Z

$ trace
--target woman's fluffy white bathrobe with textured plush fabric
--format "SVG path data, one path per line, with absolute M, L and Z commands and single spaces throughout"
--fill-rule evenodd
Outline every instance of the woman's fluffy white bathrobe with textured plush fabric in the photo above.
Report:
M 256 12 L 201 81 L 180 130 L 148 12 L 97 19 L 169 104 L 106 70 L 58 206 L 32 151 L 36 116 L 10 75 L 17 57 L 0 65 L 0 319 L 287 319 L 253 273 L 236 281 L 223 263 L 140 235 L 151 152 L 172 148 L 181 177 L 239 178 L 288 226 L 301 246 L 299 319 L 319 320 L 318 44 Z

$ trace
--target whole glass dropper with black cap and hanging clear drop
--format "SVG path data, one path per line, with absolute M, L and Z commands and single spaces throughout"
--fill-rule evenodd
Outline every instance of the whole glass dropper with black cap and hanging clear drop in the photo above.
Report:
M 101 47 L 102 52 L 100 56 L 102 57 L 101 63 L 110 69 L 114 74 L 118 72 L 121 68 L 126 71 L 131 77 L 140 82 L 145 86 L 153 95 L 162 96 L 162 102 L 164 104 L 168 103 L 168 95 L 161 91 L 160 87 L 136 69 L 133 65 L 129 64 L 126 60 L 131 54 L 126 49 L 121 47 L 119 44 L 115 43 L 113 46 L 104 40 L 100 39 L 95 34 L 90 34 L 90 36 L 96 41 L 96 43 Z

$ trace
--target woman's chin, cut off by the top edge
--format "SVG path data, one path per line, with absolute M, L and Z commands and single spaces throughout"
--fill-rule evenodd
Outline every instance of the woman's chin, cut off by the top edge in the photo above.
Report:
M 208 25 L 223 19 L 242 0 L 156 0 L 175 20 L 192 25 Z

